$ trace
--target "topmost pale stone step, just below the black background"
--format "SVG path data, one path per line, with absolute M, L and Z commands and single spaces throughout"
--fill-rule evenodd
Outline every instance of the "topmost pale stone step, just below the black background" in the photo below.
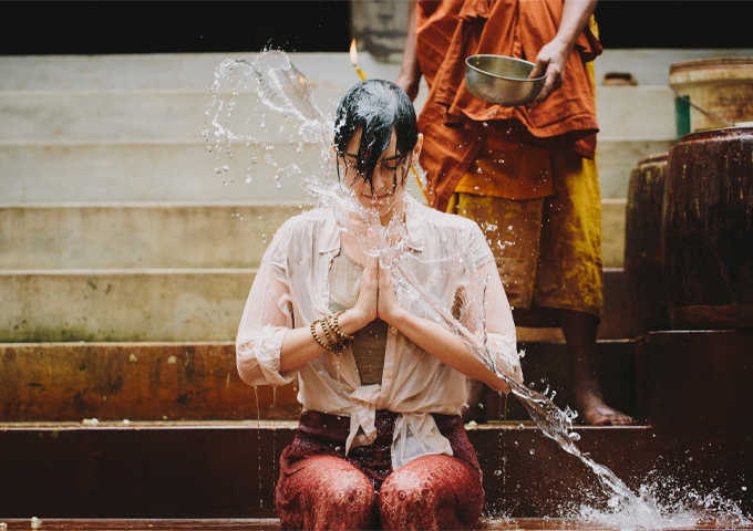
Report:
M 0 90 L 148 90 L 202 88 L 214 82 L 214 69 L 225 59 L 252 61 L 256 53 L 177 53 L 122 55 L 29 55 L 0 58 Z M 348 53 L 290 53 L 290 60 L 314 84 L 350 86 L 358 77 Z M 630 72 L 639 85 L 666 85 L 669 67 L 703 58 L 750 58 L 747 49 L 612 49 L 594 62 L 598 84 L 607 72 Z M 394 80 L 400 64 L 359 54 L 372 77 Z

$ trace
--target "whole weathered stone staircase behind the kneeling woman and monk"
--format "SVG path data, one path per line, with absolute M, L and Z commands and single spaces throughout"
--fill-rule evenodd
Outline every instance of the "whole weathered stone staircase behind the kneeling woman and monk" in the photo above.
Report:
M 597 73 L 623 71 L 626 56 L 632 52 L 607 52 Z M 646 60 L 650 82 L 639 74 L 640 86 L 597 90 L 604 254 L 611 268 L 601 379 L 610 404 L 642 419 L 651 418 L 652 402 L 639 391 L 620 268 L 630 169 L 667 150 L 675 135 L 671 92 L 651 74 L 662 56 Z M 271 236 L 310 198 L 291 181 L 278 188 L 271 166 L 254 166 L 258 146 L 237 149 L 229 171 L 215 171 L 202 131 L 223 59 L 0 58 L 0 462 L 8 478 L 0 481 L 0 516 L 21 517 L 34 503 L 47 514 L 78 518 L 274 516 L 276 458 L 292 437 L 297 388 L 255 394 L 237 376 L 233 340 Z M 323 107 L 358 81 L 347 54 L 291 61 Z M 396 77 L 395 64 L 360 62 L 371 76 Z M 419 105 L 423 97 L 425 87 Z M 261 119 L 250 102 L 236 112 L 241 107 Z M 296 147 L 269 142 L 280 158 Z M 303 150 L 316 167 L 316 146 Z M 250 184 L 246 167 L 254 167 Z M 421 195 L 415 185 L 413 192 Z M 528 341 L 526 377 L 559 389 L 564 406 L 564 345 L 541 337 L 559 339 L 519 330 Z M 503 416 L 497 400 L 487 400 L 492 418 Z M 529 423 L 517 429 L 522 409 L 510 405 L 507 414 L 514 424 L 472 430 L 489 481 L 498 476 L 499 444 L 505 462 L 518 464 L 510 477 L 537 477 L 537 489 L 571 492 L 586 481 L 569 461 L 540 479 L 561 456 Z M 102 424 L 81 426 L 92 417 Z M 581 431 L 595 457 L 635 481 L 650 470 L 641 456 L 659 451 L 646 426 Z M 533 459 L 534 450 L 548 459 Z M 12 462 L 4 457 L 12 455 Z M 71 488 L 64 494 L 58 483 L 40 488 L 28 470 L 65 477 Z M 112 473 L 124 483 L 112 486 Z M 566 501 L 564 493 L 523 496 L 530 488 L 504 482 L 487 492 L 513 500 L 499 510 L 517 516 L 554 514 Z

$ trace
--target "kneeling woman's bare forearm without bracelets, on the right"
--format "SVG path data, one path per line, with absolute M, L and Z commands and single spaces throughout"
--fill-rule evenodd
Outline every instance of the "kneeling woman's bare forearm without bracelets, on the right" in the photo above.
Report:
M 395 326 L 421 348 L 445 365 L 466 376 L 484 382 L 496 391 L 506 391 L 507 384 L 476 357 L 455 334 L 439 323 L 402 310 L 390 319 Z

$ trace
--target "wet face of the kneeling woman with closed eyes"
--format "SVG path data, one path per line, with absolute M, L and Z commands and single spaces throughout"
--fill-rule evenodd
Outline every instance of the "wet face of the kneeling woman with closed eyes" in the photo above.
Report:
M 402 195 L 405 189 L 405 179 L 408 178 L 412 160 L 417 160 L 421 153 L 421 145 L 423 137 L 419 135 L 413 152 L 401 162 L 396 154 L 395 145 L 398 144 L 398 135 L 393 131 L 390 139 L 390 145 L 386 148 L 384 157 L 374 168 L 372 178 L 372 186 L 365 183 L 362 176 L 358 173 L 358 148 L 361 144 L 361 129 L 353 133 L 353 136 L 348 143 L 348 148 L 343 156 L 339 157 L 340 175 L 344 175 L 344 183 L 348 189 L 355 196 L 355 199 L 363 208 L 374 209 L 380 218 L 389 217 L 394 208 L 402 205 Z M 344 160 L 343 160 L 344 158 Z

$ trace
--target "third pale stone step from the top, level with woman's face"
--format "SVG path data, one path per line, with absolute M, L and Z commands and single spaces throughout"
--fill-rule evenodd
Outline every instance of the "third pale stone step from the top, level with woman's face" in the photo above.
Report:
M 627 198 L 630 170 L 638 160 L 667 152 L 672 144 L 672 140 L 601 138 L 597 154 L 601 197 Z M 314 144 L 306 144 L 302 153 L 297 153 L 298 146 L 288 142 L 271 145 L 272 160 L 279 166 L 296 163 L 305 175 L 321 175 L 321 156 Z M 264 162 L 264 148 L 241 145 L 234 152 L 233 159 L 218 162 L 214 153 L 206 153 L 203 140 L 0 142 L 0 201 L 16 205 L 310 199 L 299 177 L 283 174 L 279 181 L 275 180 L 277 168 Z M 227 171 L 223 171 L 224 166 Z M 415 197 L 423 197 L 415 179 L 409 179 L 409 185 Z

